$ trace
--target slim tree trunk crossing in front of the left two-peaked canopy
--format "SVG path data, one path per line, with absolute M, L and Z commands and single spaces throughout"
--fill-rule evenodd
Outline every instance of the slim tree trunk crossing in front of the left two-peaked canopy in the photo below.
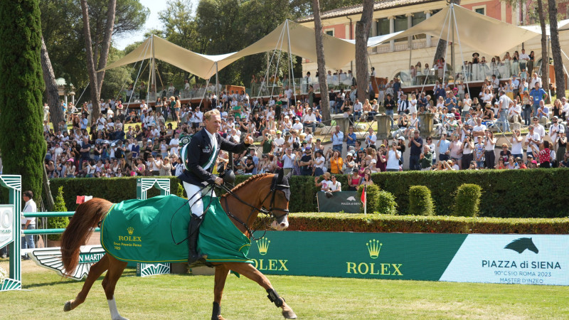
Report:
M 320 85 L 320 108 L 322 110 L 322 121 L 329 123 L 330 99 L 328 97 L 328 79 L 326 78 L 326 63 L 324 59 L 324 43 L 322 43 L 322 21 L 320 19 L 320 1 L 312 0 L 312 11 L 314 11 L 314 38 L 316 38 L 316 54 L 318 63 L 318 82 Z M 312 107 L 312 106 L 311 106 Z

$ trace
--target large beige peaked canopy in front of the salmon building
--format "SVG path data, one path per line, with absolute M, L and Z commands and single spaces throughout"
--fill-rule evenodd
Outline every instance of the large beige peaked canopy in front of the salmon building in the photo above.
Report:
M 450 15 L 452 14 L 450 11 L 454 11 L 454 17 Z M 483 16 L 462 6 L 450 4 L 417 26 L 385 38 L 383 42 L 422 33 L 435 38 L 440 37 L 446 41 L 452 41 L 452 28 L 454 28 L 455 33 L 458 30 L 458 33 L 454 35 L 456 43 L 461 43 L 463 46 L 468 46 L 489 55 L 501 55 L 519 45 L 519 43 L 528 41 L 538 35 L 538 33 L 526 28 L 520 28 L 495 18 Z

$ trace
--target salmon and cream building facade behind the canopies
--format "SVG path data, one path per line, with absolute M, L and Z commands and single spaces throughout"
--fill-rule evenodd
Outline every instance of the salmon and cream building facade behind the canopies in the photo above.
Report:
M 569 1 L 558 1 L 558 10 L 560 18 L 569 18 Z M 447 1 L 433 1 L 433 0 L 388 0 L 376 1 L 374 4 L 373 23 L 371 26 L 370 37 L 382 36 L 389 33 L 398 31 L 405 31 L 408 28 L 425 21 L 430 16 L 436 14 L 441 9 L 447 6 Z M 547 3 L 544 4 L 547 6 Z M 491 1 L 472 1 L 462 0 L 460 6 L 466 9 L 476 11 L 479 14 L 496 18 L 506 23 L 511 23 L 516 26 L 528 25 L 535 23 L 535 16 L 533 6 L 535 1 L 526 0 L 522 6 L 515 8 L 506 4 L 504 1 L 491 0 Z M 331 11 L 321 13 L 322 25 L 324 33 L 336 38 L 354 39 L 356 30 L 356 21 L 361 18 L 362 6 L 348 6 Z M 297 22 L 304 26 L 314 28 L 313 16 L 300 18 Z M 500 34 L 495 35 L 499 37 Z M 569 31 L 560 32 L 561 48 L 569 46 Z M 438 38 L 427 36 L 425 34 L 413 36 L 413 39 L 400 38 L 383 43 L 380 46 L 368 50 L 369 61 L 371 66 L 376 68 L 376 76 L 382 78 L 393 78 L 399 76 L 401 73 L 408 73 L 411 66 L 418 63 L 425 65 L 427 63 L 432 67 L 433 56 L 437 47 Z M 484 44 L 481 43 L 481 46 Z M 410 50 L 410 48 L 413 48 Z M 512 55 L 515 50 L 521 52 L 525 48 L 526 53 L 533 50 L 536 54 L 536 65 L 541 60 L 541 38 L 532 38 L 526 43 L 522 43 L 515 48 L 511 48 L 509 53 Z M 472 54 L 478 52 L 477 48 L 459 47 L 459 43 L 455 46 L 454 58 L 457 65 L 460 66 L 462 61 L 472 60 Z M 325 53 L 326 54 L 326 53 Z M 506 53 L 502 53 L 503 57 Z M 551 54 L 551 53 L 550 53 Z M 481 56 L 484 55 L 481 53 Z M 501 58 L 500 57 L 500 58 Z M 486 60 L 491 61 L 493 57 L 485 57 Z M 449 62 L 450 50 L 447 50 L 447 58 Z M 344 70 L 355 70 L 355 61 L 345 65 Z M 311 71 L 315 74 L 317 70 L 316 61 L 303 59 L 304 73 Z M 501 78 L 507 78 L 511 73 L 508 73 Z

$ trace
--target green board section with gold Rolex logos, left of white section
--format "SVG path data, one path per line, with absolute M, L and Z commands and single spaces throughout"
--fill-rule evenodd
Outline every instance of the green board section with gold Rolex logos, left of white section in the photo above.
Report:
M 438 281 L 467 235 L 267 231 L 249 257 L 265 274 Z

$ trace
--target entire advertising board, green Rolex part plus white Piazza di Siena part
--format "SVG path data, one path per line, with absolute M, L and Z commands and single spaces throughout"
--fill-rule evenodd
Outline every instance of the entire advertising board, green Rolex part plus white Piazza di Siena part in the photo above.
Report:
M 569 235 L 268 231 L 249 257 L 266 274 L 569 285 L 568 247 Z

